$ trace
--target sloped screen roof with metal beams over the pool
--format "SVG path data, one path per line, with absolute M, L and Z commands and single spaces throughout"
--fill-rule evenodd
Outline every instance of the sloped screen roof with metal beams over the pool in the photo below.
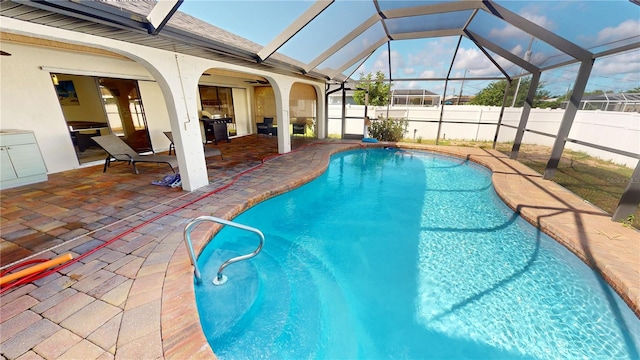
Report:
M 301 21 L 317 3 L 326 5 L 310 21 Z M 624 0 L 186 0 L 180 10 L 271 45 L 277 54 L 303 64 L 304 71 L 337 81 L 378 70 L 393 80 L 442 78 L 452 63 L 454 77 L 518 77 L 531 69 L 555 71 L 609 51 L 626 53 L 626 64 L 629 58 L 640 61 L 640 6 Z M 298 27 L 295 34 L 283 34 L 292 24 Z M 461 36 L 464 40 L 456 47 Z M 612 64 L 620 59 L 599 61 L 593 72 L 617 77 L 622 87 L 637 86 L 640 78 L 632 73 L 640 68 L 627 65 L 625 73 L 612 73 Z M 571 78 L 566 72 L 557 77 Z

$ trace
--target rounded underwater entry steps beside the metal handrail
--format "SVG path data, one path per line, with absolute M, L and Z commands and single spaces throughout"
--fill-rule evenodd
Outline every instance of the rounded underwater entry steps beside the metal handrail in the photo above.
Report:
M 265 235 L 259 256 L 224 270 L 226 284 L 203 284 L 216 304 L 199 300 L 203 326 L 206 320 L 214 327 L 206 332 L 214 352 L 221 358 L 357 357 L 353 315 L 330 267 L 303 245 Z M 207 283 L 224 259 L 253 246 L 251 239 L 237 241 L 214 251 L 203 272 Z

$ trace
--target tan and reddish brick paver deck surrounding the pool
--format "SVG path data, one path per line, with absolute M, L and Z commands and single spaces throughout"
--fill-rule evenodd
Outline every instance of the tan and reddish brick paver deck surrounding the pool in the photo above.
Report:
M 282 156 L 275 156 L 277 145 L 269 137 L 218 146 L 225 160 L 210 159 L 210 185 L 191 193 L 150 185 L 166 174 L 155 166 L 141 168 L 140 175 L 124 166 L 105 174 L 91 167 L 0 192 L 3 265 L 39 251 L 44 258 L 84 256 L 0 296 L 2 357 L 214 358 L 198 322 L 193 270 L 182 240 L 186 223 L 200 215 L 231 218 L 315 178 L 331 154 L 362 145 L 296 139 L 296 150 Z M 638 314 L 637 231 L 611 222 L 499 152 L 418 147 L 489 167 L 497 193 L 510 207 L 601 272 Z M 197 252 L 216 229 L 203 224 L 192 233 Z M 51 245 L 56 248 L 46 250 Z

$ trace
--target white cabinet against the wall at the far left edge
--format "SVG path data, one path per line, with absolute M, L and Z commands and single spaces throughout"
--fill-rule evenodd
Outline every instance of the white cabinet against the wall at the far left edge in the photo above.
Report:
M 47 181 L 47 168 L 33 132 L 0 131 L 0 189 Z

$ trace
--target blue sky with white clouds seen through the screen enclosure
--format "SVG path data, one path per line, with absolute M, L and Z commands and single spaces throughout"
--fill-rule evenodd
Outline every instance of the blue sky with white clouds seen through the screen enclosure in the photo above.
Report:
M 428 3 L 434 1 L 381 1 L 380 6 L 384 10 Z M 311 4 L 313 1 L 308 0 L 185 0 L 179 10 L 260 45 L 267 45 Z M 497 4 L 593 53 L 640 42 L 640 6 L 627 0 L 498 0 Z M 374 13 L 375 8 L 370 0 L 336 0 L 278 51 L 309 63 Z M 387 27 L 411 31 L 412 26 L 421 24 L 420 30 L 443 29 L 463 24 L 469 14 L 415 17 L 412 22 L 388 20 Z M 469 29 L 523 58 L 530 49 L 532 62 L 542 67 L 570 59 L 554 47 L 539 39 L 531 39 L 528 34 L 483 11 L 474 17 Z M 339 67 L 346 59 L 351 59 L 382 36 L 384 28 L 379 24 L 373 26 L 354 41 L 358 42 L 356 46 L 339 51 L 320 68 Z M 446 77 L 454 56 L 451 77 L 502 77 L 493 63 L 466 37 L 463 37 L 455 53 L 458 40 L 458 36 L 394 40 L 389 48 L 384 44 L 364 63 L 354 64 L 343 74 L 352 74 L 354 79 L 358 79 L 361 73 L 380 70 L 388 77 L 390 50 L 395 89 L 418 88 L 442 93 L 445 86 L 443 81 L 401 79 Z M 519 67 L 497 55 L 494 58 L 510 76 L 521 73 Z M 543 72 L 541 81 L 544 90 L 551 95 L 567 93 L 573 87 L 577 73 L 578 65 Z M 494 79 L 450 81 L 446 95 L 459 94 L 461 90 L 463 95 L 473 95 L 492 81 Z M 596 60 L 586 91 L 621 92 L 636 87 L 640 87 L 640 49 Z

